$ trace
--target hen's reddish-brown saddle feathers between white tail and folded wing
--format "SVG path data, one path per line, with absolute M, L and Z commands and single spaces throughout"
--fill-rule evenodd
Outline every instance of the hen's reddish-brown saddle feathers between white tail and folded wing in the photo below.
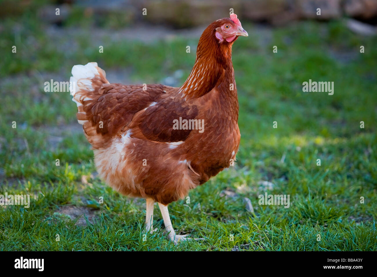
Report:
M 160 84 L 125 86 L 103 84 L 100 89 L 86 96 L 77 119 L 86 121 L 84 132 L 93 148 L 106 148 L 118 132 L 127 129 L 135 113 L 145 109 L 172 87 Z

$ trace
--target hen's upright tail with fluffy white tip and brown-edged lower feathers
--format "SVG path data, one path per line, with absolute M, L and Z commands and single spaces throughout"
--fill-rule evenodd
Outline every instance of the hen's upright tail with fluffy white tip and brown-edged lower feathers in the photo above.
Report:
M 72 77 L 69 79 L 69 91 L 72 101 L 77 104 L 77 121 L 83 125 L 85 136 L 94 148 L 101 144 L 101 134 L 97 132 L 97 124 L 93 121 L 92 107 L 101 96 L 99 89 L 103 84 L 109 84 L 106 73 L 97 63 L 75 65 L 72 67 Z

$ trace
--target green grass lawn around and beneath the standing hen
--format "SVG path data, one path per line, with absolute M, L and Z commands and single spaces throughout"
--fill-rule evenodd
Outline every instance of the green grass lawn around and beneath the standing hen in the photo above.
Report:
M 14 31 L 16 22 L 21 27 Z M 106 43 L 100 54 L 90 43 L 90 29 L 70 38 L 71 49 L 50 41 L 31 15 L 7 18 L 0 39 L 0 193 L 30 194 L 31 206 L 0 206 L 0 249 L 377 250 L 377 39 L 352 34 L 341 21 L 273 29 L 268 40 L 254 32 L 256 26 L 244 25 L 250 35 L 233 47 L 242 134 L 238 160 L 190 191 L 190 204 L 169 205 L 175 230 L 205 238 L 174 246 L 162 232 L 157 205 L 154 225 L 160 230 L 143 241 L 144 200 L 121 196 L 95 176 L 81 182 L 95 166 L 83 133 L 73 131 L 76 105 L 67 92 L 44 92 L 43 82 L 68 80 L 72 65 L 89 61 L 104 70 L 127 69 L 131 80 L 145 83 L 178 69 L 187 76 L 195 51 L 187 54 L 186 45 L 195 49 L 197 41 L 119 40 Z M 11 53 L 15 44 L 17 54 Z M 334 81 L 334 95 L 302 92 L 309 79 Z M 260 181 L 274 186 L 263 188 Z M 224 190 L 235 194 L 226 197 Z M 289 194 L 290 207 L 258 205 L 266 191 Z M 101 196 L 104 203 L 98 204 Z M 245 210 L 244 197 L 254 213 Z M 75 225 L 78 219 L 60 213 L 68 206 L 91 209 L 96 217 Z

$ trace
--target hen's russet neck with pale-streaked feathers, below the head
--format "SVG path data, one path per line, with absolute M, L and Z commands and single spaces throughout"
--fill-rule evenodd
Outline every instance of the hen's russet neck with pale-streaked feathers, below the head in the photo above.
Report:
M 185 99 L 198 98 L 218 88 L 223 96 L 237 98 L 231 61 L 232 43 L 219 44 L 215 34 L 204 32 L 199 40 L 193 69 L 179 88 L 179 94 Z M 221 90 L 221 91 L 220 91 Z

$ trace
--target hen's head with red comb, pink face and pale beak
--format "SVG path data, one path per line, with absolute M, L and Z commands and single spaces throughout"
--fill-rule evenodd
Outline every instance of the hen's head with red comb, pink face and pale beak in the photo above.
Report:
M 248 36 L 236 14 L 231 14 L 230 18 L 216 20 L 213 24 L 215 27 L 215 36 L 219 43 L 232 43 L 239 36 Z

